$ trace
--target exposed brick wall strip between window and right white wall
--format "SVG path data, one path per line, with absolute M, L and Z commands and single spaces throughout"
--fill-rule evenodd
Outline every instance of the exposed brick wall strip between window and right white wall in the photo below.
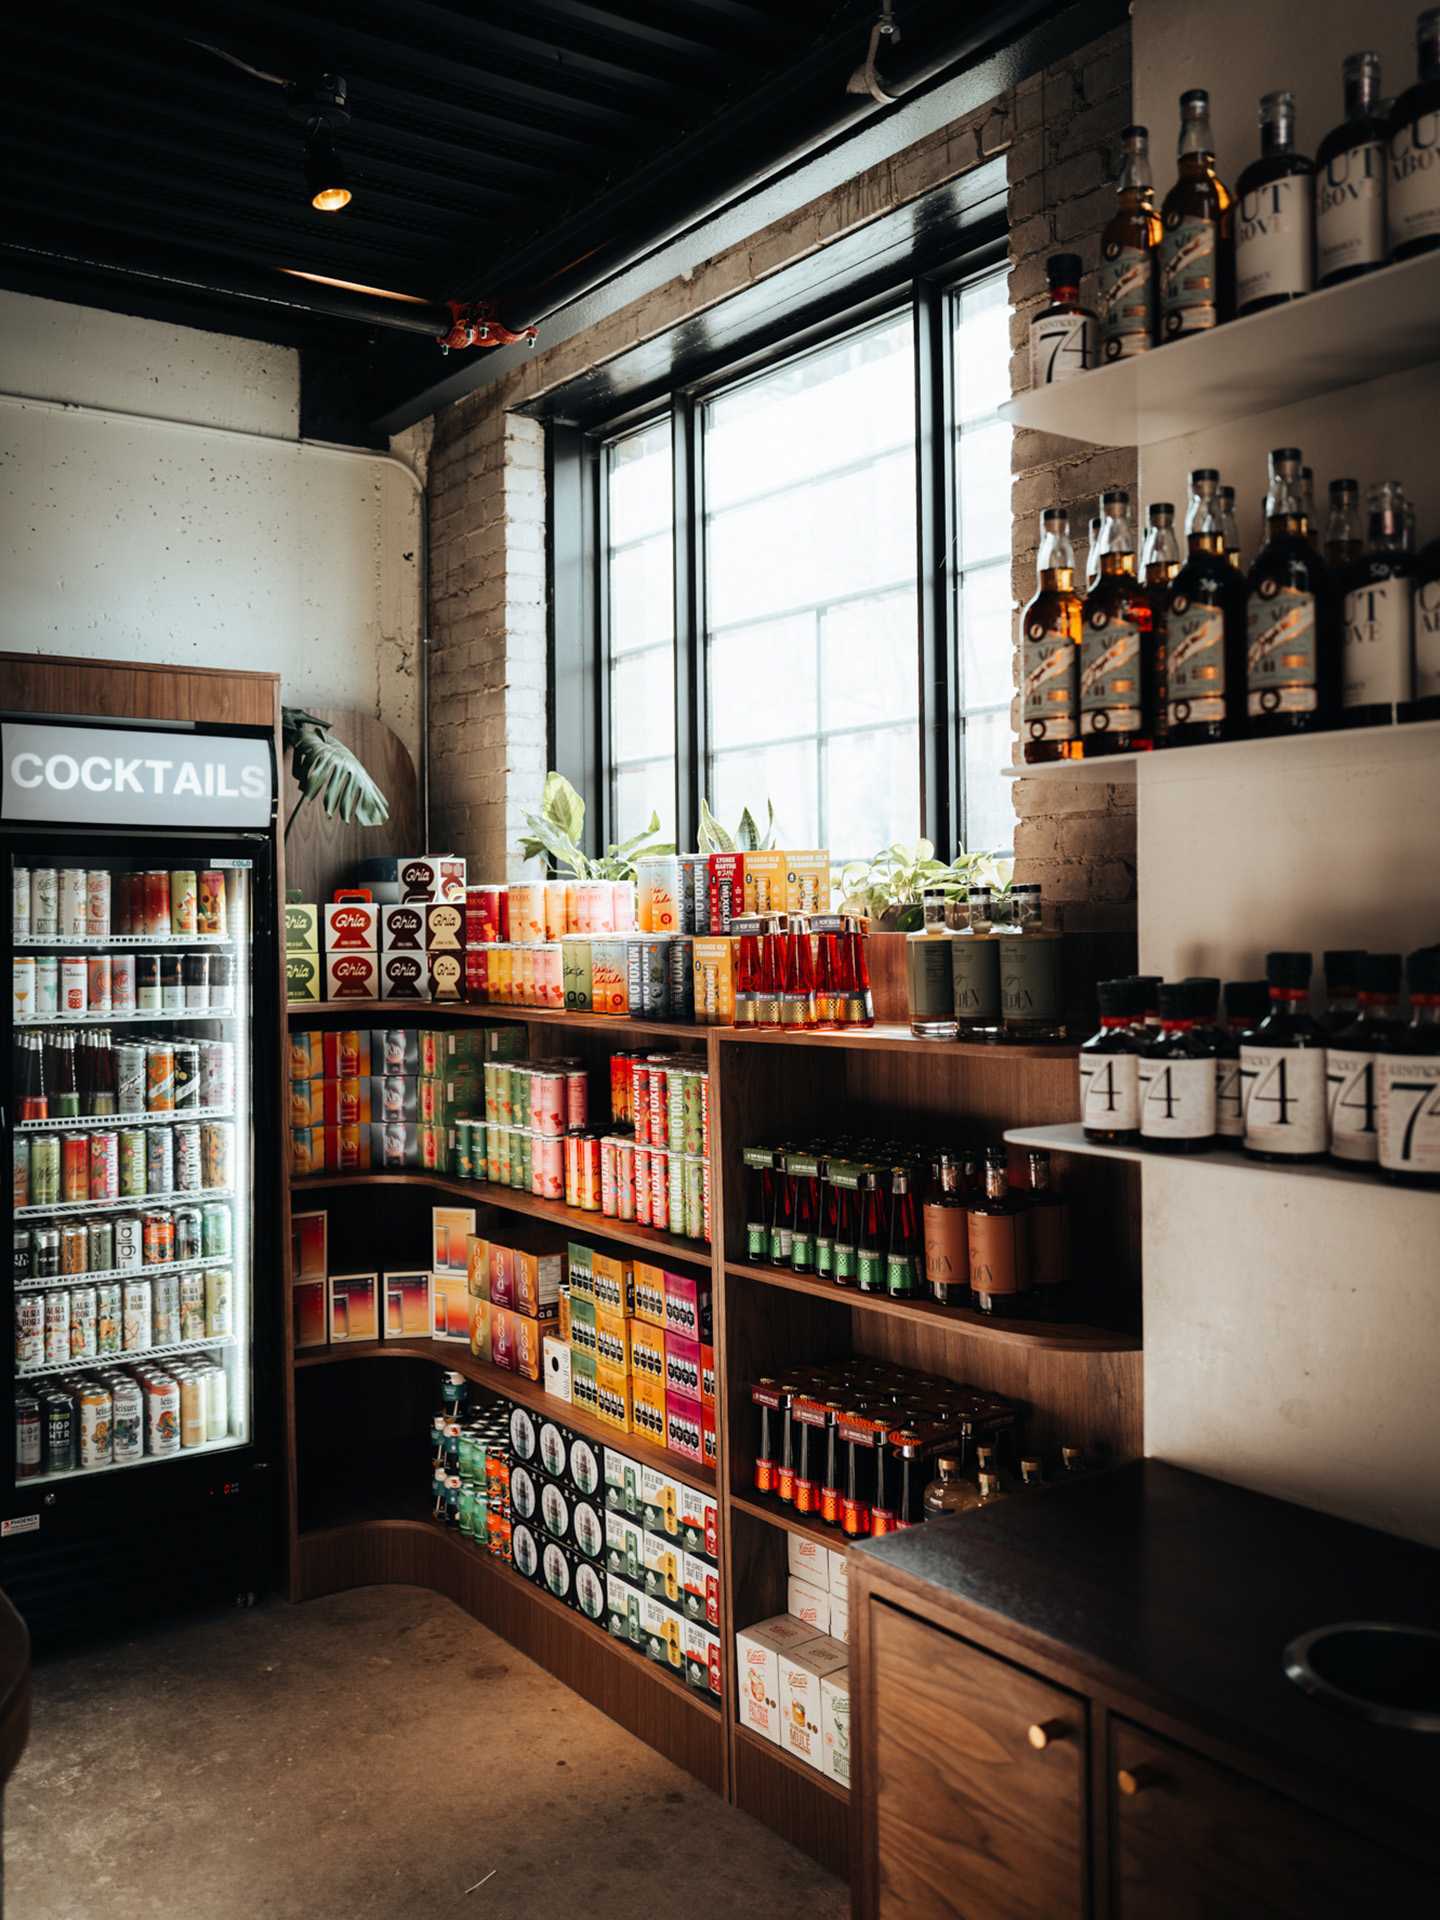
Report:
M 1129 117 L 1129 27 L 1117 27 L 1016 88 L 1016 134 L 1006 156 L 1014 392 L 1029 386 L 1027 330 L 1031 315 L 1044 305 L 1046 257 L 1079 253 L 1085 261 L 1081 298 L 1092 300 L 1100 230 L 1116 205 L 1119 131 Z M 1129 488 L 1139 513 L 1137 459 L 1133 447 L 1094 449 L 1020 430 L 1012 470 L 1012 591 L 1016 605 L 1023 607 L 1035 591 L 1041 511 L 1052 505 L 1069 509 L 1075 564 L 1083 578 L 1087 530 L 1100 490 Z M 1014 722 L 1018 732 L 1018 710 Z M 1018 780 L 1014 799 L 1016 879 L 1039 881 L 1046 900 L 1060 906 L 1068 931 L 1133 929 L 1135 787 L 1048 774 Z

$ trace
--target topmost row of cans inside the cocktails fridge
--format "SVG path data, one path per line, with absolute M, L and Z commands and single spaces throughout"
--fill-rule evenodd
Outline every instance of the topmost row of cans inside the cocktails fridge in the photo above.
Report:
M 230 914 L 219 868 L 17 866 L 12 939 L 225 939 Z

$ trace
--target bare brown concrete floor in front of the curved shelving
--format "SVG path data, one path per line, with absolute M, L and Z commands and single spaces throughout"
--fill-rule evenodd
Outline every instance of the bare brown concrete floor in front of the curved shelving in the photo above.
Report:
M 438 1594 L 48 1661 L 6 1920 L 687 1920 L 849 1899 Z

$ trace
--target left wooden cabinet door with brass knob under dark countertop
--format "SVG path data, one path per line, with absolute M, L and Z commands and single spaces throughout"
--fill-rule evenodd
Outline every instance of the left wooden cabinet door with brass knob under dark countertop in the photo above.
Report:
M 870 1910 L 1081 1920 L 1085 1701 L 879 1599 L 868 1644 Z

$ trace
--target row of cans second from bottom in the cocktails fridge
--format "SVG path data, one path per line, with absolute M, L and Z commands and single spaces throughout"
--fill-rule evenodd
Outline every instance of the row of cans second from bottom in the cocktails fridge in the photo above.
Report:
M 144 1354 L 152 1346 L 228 1340 L 232 1331 L 228 1267 L 15 1294 L 15 1373 Z

